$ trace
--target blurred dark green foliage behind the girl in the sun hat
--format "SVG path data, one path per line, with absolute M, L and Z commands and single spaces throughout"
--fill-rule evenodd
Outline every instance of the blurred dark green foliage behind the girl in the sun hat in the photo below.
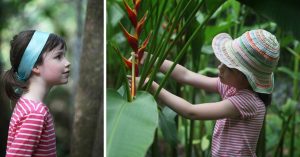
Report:
M 218 1 L 193 1 L 195 5 L 189 6 L 189 12 L 185 12 L 184 20 L 179 22 L 171 38 L 167 41 L 161 40 L 166 31 L 170 31 L 166 26 L 171 23 L 174 8 L 180 4 L 180 0 L 172 3 L 165 1 L 142 1 L 141 10 L 150 10 L 149 18 L 146 21 L 146 32 L 158 27 L 158 33 L 151 39 L 151 43 L 146 51 L 156 51 L 160 44 L 169 43 L 171 45 L 178 35 L 179 30 L 184 26 L 187 17 L 198 3 L 204 2 L 194 19 L 184 31 L 184 35 L 176 41 L 175 46 L 168 53 L 168 58 L 174 60 L 184 47 L 185 43 L 195 32 L 197 26 L 204 22 L 205 15 L 209 13 L 209 7 L 217 4 Z M 241 3 L 239 3 L 241 2 Z M 275 71 L 275 90 L 273 93 L 273 103 L 268 108 L 265 128 L 262 131 L 263 140 L 258 147 L 258 156 L 300 156 L 300 151 L 296 146 L 300 143 L 299 137 L 299 22 L 297 16 L 300 15 L 297 9 L 298 3 L 293 0 L 285 1 L 235 1 L 227 0 L 217 9 L 208 23 L 193 39 L 186 53 L 179 60 L 179 63 L 196 72 L 209 76 L 216 76 L 217 61 L 212 53 L 212 38 L 221 32 L 227 32 L 232 37 L 238 37 L 242 33 L 251 29 L 266 29 L 275 34 L 281 44 L 281 56 L 278 68 Z M 188 1 L 186 1 L 188 3 Z M 155 8 L 156 7 L 156 8 Z M 163 11 L 162 11 L 163 10 Z M 121 21 L 126 28 L 130 28 L 129 20 L 121 0 L 107 1 L 107 87 L 118 89 L 122 84 L 120 74 L 120 63 L 116 58 L 114 50 L 109 45 L 114 43 L 124 56 L 129 58 L 130 47 L 122 35 L 118 22 Z M 163 12 L 161 22 L 156 12 Z M 287 18 L 288 17 L 288 18 Z M 147 33 L 145 33 L 147 34 Z M 160 42 L 163 41 L 163 42 Z M 158 73 L 156 80 L 160 82 L 164 76 Z M 172 80 L 168 80 L 166 87 L 171 92 L 189 100 L 193 103 L 201 103 L 219 100 L 214 94 L 206 93 L 202 90 L 195 90 L 191 87 L 182 87 Z M 175 122 L 175 124 L 174 124 Z M 182 117 L 175 117 L 169 111 L 160 112 L 160 128 L 156 144 L 159 146 L 159 154 L 163 156 L 184 156 L 190 151 L 188 143 L 192 141 L 191 156 L 209 156 L 210 142 L 213 130 L 213 121 L 189 121 Z M 176 128 L 176 130 L 174 130 Z M 171 130 L 172 129 L 172 130 Z M 194 129 L 194 130 L 193 130 Z M 191 132 L 193 130 L 193 132 Z M 193 133 L 193 136 L 191 136 Z M 175 137 L 175 138 L 174 138 Z M 191 140 L 191 141 L 189 141 Z M 175 147 L 174 147 L 175 145 Z M 153 149 L 149 149 L 149 154 L 155 154 Z M 148 154 L 148 155 L 149 155 Z

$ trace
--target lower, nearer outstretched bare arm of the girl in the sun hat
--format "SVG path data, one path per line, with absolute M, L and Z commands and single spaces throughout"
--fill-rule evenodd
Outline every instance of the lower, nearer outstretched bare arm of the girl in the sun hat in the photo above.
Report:
M 155 92 L 157 89 L 158 84 L 153 82 L 152 92 Z M 238 109 L 229 100 L 192 105 L 165 89 L 160 91 L 158 98 L 175 112 L 188 119 L 215 120 L 234 118 L 240 115 Z

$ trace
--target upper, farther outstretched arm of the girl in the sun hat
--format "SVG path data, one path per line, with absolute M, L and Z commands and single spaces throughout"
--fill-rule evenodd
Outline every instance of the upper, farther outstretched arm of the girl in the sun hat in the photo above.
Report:
M 165 60 L 160 67 L 160 71 L 163 73 L 168 72 L 173 62 Z M 188 84 L 193 87 L 201 88 L 210 92 L 218 92 L 217 90 L 217 78 L 207 77 L 177 64 L 171 73 L 171 77 L 177 82 L 182 84 Z

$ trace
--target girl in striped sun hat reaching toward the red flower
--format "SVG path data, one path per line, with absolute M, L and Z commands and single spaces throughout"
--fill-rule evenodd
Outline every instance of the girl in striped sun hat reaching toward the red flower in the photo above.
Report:
M 212 48 L 221 62 L 219 77 L 203 76 L 180 65 L 175 66 L 171 77 L 183 84 L 218 92 L 221 101 L 192 105 L 165 89 L 158 98 L 183 117 L 217 120 L 212 156 L 255 157 L 266 106 L 271 103 L 279 44 L 274 35 L 258 29 L 245 32 L 234 40 L 226 33 L 218 34 L 212 41 Z M 165 60 L 160 71 L 166 73 L 172 64 Z M 158 84 L 153 82 L 151 89 L 155 92 Z

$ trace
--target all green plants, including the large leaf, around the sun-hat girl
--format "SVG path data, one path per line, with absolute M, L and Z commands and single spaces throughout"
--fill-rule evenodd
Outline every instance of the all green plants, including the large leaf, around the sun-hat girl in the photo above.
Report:
M 169 78 L 170 71 L 166 75 L 159 73 L 160 61 L 169 59 L 192 71 L 217 76 L 218 63 L 211 48 L 216 34 L 226 32 L 236 38 L 252 29 L 273 33 L 280 42 L 280 60 L 275 70 L 272 104 L 267 109 L 256 153 L 300 156 L 298 1 L 142 0 L 138 7 L 139 1 L 126 2 L 133 10 L 138 8 L 138 20 L 147 16 L 138 43 L 142 45 L 152 32 L 146 51 L 154 59 L 138 66 L 141 79 L 147 76 L 149 82 L 155 80 L 191 103 L 218 101 L 220 97 L 176 83 Z M 106 5 L 108 156 L 210 156 L 214 121 L 187 120 L 167 107 L 158 107 L 159 101 L 142 92 L 149 91 L 149 86 L 136 85 L 137 95 L 131 97 L 126 75 L 134 72 L 126 70 L 130 64 L 125 58 L 131 57 L 130 52 L 135 49 L 139 25 L 134 24 L 135 15 L 125 6 L 122 0 L 107 0 Z M 120 23 L 132 37 L 126 35 Z M 159 61 L 154 65 L 156 58 Z

